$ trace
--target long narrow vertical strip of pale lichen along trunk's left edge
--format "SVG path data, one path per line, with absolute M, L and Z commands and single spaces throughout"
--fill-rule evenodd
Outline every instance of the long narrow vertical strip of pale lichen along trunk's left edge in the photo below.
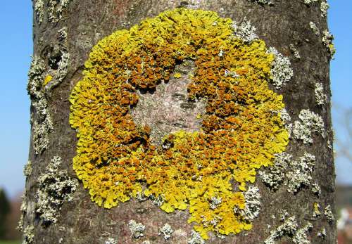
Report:
M 32 100 L 35 116 L 31 115 L 33 129 L 32 144 L 34 153 L 38 155 L 49 146 L 49 133 L 53 130 L 53 123 L 48 110 L 48 102 L 42 90 L 45 71 L 44 60 L 34 57 L 28 72 L 27 91 Z

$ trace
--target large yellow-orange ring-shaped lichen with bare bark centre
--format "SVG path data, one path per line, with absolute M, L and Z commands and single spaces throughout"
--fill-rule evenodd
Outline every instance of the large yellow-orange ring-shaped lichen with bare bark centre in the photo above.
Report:
M 78 137 L 73 167 L 95 203 L 111 208 L 145 195 L 165 212 L 188 208 L 205 239 L 208 231 L 251 229 L 234 210 L 244 209 L 256 169 L 285 150 L 288 132 L 275 113 L 282 96 L 267 82 L 274 56 L 262 40 L 235 37 L 232 25 L 211 11 L 178 8 L 94 46 L 70 96 L 70 124 Z M 196 64 L 189 99 L 207 101 L 201 129 L 155 146 L 130 110 L 137 90 L 168 82 L 184 60 Z

